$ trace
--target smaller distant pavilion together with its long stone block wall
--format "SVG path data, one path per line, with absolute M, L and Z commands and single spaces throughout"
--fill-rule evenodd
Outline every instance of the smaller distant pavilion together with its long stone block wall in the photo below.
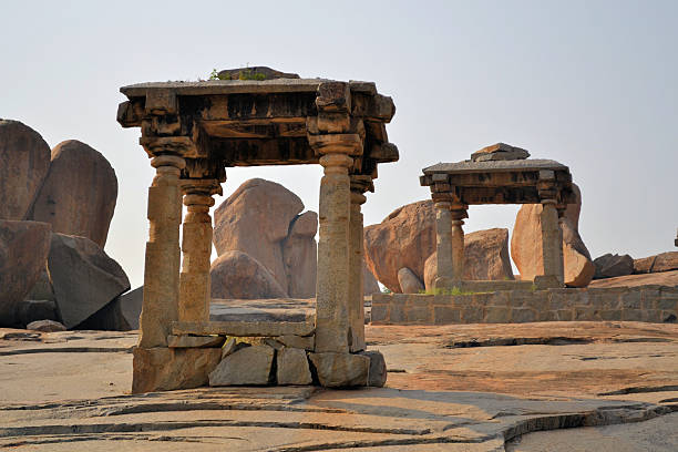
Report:
M 528 156 L 525 150 L 499 143 L 473 153 L 471 160 L 439 163 L 423 170 L 420 183 L 431 188 L 435 203 L 436 251 L 433 256 L 438 260 L 438 274 L 433 290 L 428 294 L 374 294 L 372 323 L 676 321 L 676 287 L 565 287 L 563 230 L 566 207 L 577 198 L 575 186 L 567 166 Z M 472 204 L 541 204 L 543 275 L 532 280 L 464 279 L 462 225 Z M 666 270 L 672 268 L 666 265 L 671 260 L 669 255 L 639 260 L 646 261 L 646 267 Z

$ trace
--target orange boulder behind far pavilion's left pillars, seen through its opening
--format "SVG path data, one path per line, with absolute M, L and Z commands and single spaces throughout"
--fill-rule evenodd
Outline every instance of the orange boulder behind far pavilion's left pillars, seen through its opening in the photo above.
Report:
M 434 251 L 424 265 L 424 285 L 433 289 L 438 276 L 438 254 Z M 508 229 L 476 230 L 464 236 L 464 279 L 513 279 L 508 257 Z

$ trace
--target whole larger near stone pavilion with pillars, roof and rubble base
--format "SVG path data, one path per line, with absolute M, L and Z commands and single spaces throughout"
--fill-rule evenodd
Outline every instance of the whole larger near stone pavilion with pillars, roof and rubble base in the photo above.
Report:
M 140 143 L 156 168 L 148 188 L 150 239 L 133 392 L 208 381 L 306 384 L 309 376 L 325 387 L 386 381 L 383 357 L 364 351 L 360 206 L 364 193 L 373 191 L 378 164 L 399 157 L 386 132 L 396 107 L 371 82 L 273 76 L 282 78 L 229 75 L 121 89 L 129 101 L 120 104 L 117 121 L 141 127 Z M 295 164 L 325 168 L 315 318 L 209 321 L 209 208 L 212 196 L 222 193 L 225 168 Z M 229 339 L 222 347 L 234 337 L 247 339 Z

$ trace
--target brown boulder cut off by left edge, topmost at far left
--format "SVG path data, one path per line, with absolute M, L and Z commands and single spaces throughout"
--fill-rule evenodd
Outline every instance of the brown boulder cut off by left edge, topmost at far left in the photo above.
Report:
M 50 167 L 50 146 L 31 127 L 0 120 L 0 218 L 27 219 Z

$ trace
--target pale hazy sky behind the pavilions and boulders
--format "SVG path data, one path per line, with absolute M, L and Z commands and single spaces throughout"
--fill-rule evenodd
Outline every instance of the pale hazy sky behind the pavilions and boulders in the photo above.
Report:
M 106 251 L 143 279 L 146 188 L 138 130 L 115 122 L 119 88 L 269 65 L 374 81 L 393 96 L 366 224 L 428 198 L 421 168 L 503 141 L 569 165 L 590 253 L 675 249 L 678 1 L 22 1 L 0 6 L 0 117 L 54 146 L 83 141 L 120 194 Z M 265 177 L 317 209 L 320 168 L 235 168 L 225 195 Z M 217 197 L 217 203 L 223 198 Z M 468 232 L 513 227 L 517 207 L 470 209 Z

